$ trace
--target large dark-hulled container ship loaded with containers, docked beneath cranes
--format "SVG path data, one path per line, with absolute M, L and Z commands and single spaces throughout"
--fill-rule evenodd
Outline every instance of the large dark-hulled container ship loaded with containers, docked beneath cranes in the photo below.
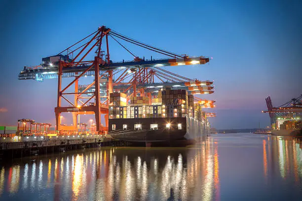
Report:
M 210 131 L 202 106 L 186 90 L 165 87 L 156 98 L 110 94 L 109 134 L 127 141 L 199 139 Z

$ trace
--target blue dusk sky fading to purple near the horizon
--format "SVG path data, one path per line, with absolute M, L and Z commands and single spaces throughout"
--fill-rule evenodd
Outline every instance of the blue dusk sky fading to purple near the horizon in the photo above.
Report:
M 166 69 L 214 80 L 215 93 L 198 97 L 216 100 L 208 111 L 217 113 L 210 119 L 217 129 L 269 126 L 261 113 L 268 95 L 279 106 L 302 94 L 300 0 L 1 0 L 0 125 L 22 118 L 55 125 L 57 79 L 24 81 L 18 73 L 102 25 L 171 52 L 213 57 L 206 65 Z M 114 46 L 110 52 L 113 61 L 131 59 Z

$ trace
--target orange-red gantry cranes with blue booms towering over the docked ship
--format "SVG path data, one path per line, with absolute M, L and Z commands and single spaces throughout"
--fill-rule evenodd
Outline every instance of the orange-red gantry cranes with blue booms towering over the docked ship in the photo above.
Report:
M 123 60 L 118 63 L 111 61 L 108 36 L 130 53 L 133 60 L 129 62 Z M 140 58 L 121 44 L 120 40 L 169 58 L 161 60 L 154 60 L 152 57 L 150 60 L 145 59 L 145 57 Z M 105 51 L 102 49 L 103 43 L 105 44 Z M 93 60 L 87 59 L 93 50 L 95 50 L 96 56 Z M 62 55 L 64 52 L 66 55 Z M 151 90 L 152 86 L 155 87 L 156 84 L 158 89 L 162 89 L 159 86 L 164 85 L 172 85 L 172 87 L 173 85 L 180 85 L 179 87 L 188 88 L 192 94 L 213 93 L 211 86 L 213 82 L 189 79 L 164 69 L 167 66 L 206 64 L 209 62 L 209 58 L 192 58 L 187 55 L 168 52 L 117 33 L 105 26 L 98 28 L 96 32 L 79 40 L 59 54 L 43 58 L 42 61 L 43 64 L 39 66 L 24 67 L 24 70 L 19 73 L 19 79 L 43 81 L 43 79 L 58 78 L 58 97 L 55 108 L 57 130 L 59 130 L 61 113 L 72 112 L 75 127 L 76 115 L 95 114 L 96 130 L 102 133 L 101 114 L 105 114 L 106 126 L 108 126 L 109 94 L 113 93 L 114 90 L 127 93 L 127 99 L 131 96 L 136 97 L 138 93 L 150 97 L 152 92 L 157 91 Z M 94 76 L 95 80 L 79 90 L 78 79 L 85 76 Z M 118 78 L 113 80 L 113 76 Z M 75 79 L 62 88 L 63 77 L 75 77 Z M 161 82 L 160 85 L 158 82 Z M 68 90 L 73 84 L 75 84 L 74 92 L 69 92 Z M 100 93 L 102 90 L 103 93 Z M 69 100 L 68 95 L 74 95 L 74 100 Z M 95 102 L 92 103 L 91 100 L 93 99 Z M 71 106 L 62 106 L 62 100 L 66 100 Z

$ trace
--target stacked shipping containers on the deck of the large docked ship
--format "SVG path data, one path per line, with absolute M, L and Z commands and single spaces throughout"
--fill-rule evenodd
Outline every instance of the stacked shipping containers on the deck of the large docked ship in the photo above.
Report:
M 126 95 L 123 93 L 110 94 L 109 118 L 173 118 L 192 117 L 196 120 L 205 120 L 205 112 L 199 104 L 194 104 L 193 95 L 186 90 L 159 91 L 156 99 L 149 97 L 131 97 L 130 105 L 126 104 Z

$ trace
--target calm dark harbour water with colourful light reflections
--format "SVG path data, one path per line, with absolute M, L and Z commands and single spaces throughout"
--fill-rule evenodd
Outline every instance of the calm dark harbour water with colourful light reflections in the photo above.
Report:
M 212 135 L 187 148 L 86 149 L 0 166 L 0 200 L 295 200 L 301 193 L 297 140 L 265 135 Z

